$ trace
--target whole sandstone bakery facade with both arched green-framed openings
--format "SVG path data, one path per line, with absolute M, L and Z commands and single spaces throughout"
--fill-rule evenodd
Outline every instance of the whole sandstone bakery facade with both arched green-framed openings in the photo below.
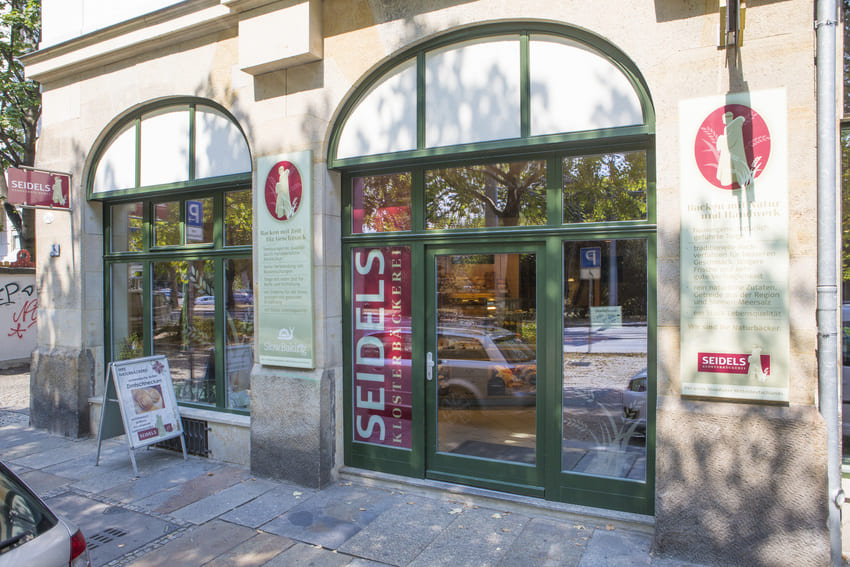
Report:
M 824 563 L 811 2 L 113 4 L 43 0 L 25 57 L 72 205 L 34 426 L 96 434 L 107 365 L 164 354 L 258 477 Z

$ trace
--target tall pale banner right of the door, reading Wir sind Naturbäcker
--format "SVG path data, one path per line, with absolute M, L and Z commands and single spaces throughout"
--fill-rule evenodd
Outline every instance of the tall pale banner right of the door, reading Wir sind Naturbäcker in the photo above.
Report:
M 787 402 L 783 89 L 683 101 L 682 395 Z

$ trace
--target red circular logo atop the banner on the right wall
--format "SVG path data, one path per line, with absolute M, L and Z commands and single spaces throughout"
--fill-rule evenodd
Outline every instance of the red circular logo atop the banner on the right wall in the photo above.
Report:
M 694 142 L 697 167 L 720 189 L 752 185 L 770 157 L 770 132 L 758 112 L 743 104 L 727 104 L 709 114 Z

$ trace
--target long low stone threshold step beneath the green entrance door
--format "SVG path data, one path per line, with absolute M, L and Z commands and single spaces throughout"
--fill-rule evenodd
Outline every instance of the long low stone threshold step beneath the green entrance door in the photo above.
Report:
M 407 494 L 460 502 L 469 506 L 496 508 L 532 517 L 546 517 L 564 521 L 568 519 L 583 523 L 611 524 L 616 528 L 628 529 L 648 535 L 655 534 L 655 518 L 644 514 L 633 514 L 605 508 L 593 508 L 578 504 L 553 502 L 531 496 L 510 494 L 486 488 L 453 484 L 439 480 L 412 478 L 356 467 L 342 467 L 339 480 L 347 480 L 396 490 Z

